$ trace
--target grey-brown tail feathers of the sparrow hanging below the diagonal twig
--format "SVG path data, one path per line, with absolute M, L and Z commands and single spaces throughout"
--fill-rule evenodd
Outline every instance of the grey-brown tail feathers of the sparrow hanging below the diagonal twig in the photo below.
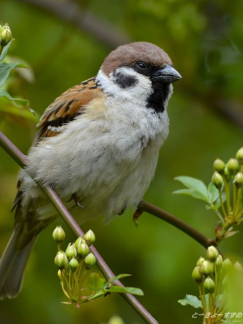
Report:
M 34 246 L 34 236 L 22 249 L 19 249 L 22 227 L 15 228 L 0 259 L 0 299 L 14 298 L 21 290 L 24 270 Z

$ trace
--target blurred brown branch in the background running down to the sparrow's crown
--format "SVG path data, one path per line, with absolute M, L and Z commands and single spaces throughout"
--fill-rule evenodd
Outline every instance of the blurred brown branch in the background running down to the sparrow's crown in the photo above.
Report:
M 58 18 L 73 24 L 80 30 L 86 31 L 99 42 L 106 44 L 111 48 L 131 42 L 130 37 L 124 35 L 115 28 L 99 19 L 97 16 L 80 7 L 71 1 L 53 1 L 53 0 L 20 0 L 42 8 L 53 13 Z M 18 0 L 19 2 L 19 0 Z

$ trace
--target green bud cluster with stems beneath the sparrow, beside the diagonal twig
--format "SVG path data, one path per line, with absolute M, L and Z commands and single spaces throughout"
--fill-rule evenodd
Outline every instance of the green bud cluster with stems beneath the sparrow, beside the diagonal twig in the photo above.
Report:
M 61 226 L 54 229 L 52 237 L 57 242 L 54 264 L 59 269 L 57 275 L 63 291 L 70 300 L 80 300 L 80 291 L 86 271 L 96 263 L 96 258 L 89 248 L 95 241 L 94 232 L 89 230 L 84 237 L 80 236 L 74 243 L 69 243 L 65 252 L 60 249 L 60 244 L 65 239 L 65 231 Z

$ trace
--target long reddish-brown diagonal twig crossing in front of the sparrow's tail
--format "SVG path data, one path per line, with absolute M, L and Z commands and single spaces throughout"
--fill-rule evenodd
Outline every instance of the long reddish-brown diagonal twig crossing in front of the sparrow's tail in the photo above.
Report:
M 27 157 L 18 150 L 18 148 L 2 133 L 0 132 L 0 146 L 17 162 L 19 166 L 24 168 L 28 162 Z M 84 232 L 79 227 L 77 222 L 74 220 L 72 215 L 69 213 L 67 208 L 64 206 L 62 200 L 58 197 L 56 192 L 50 187 L 40 187 L 43 192 L 46 194 L 47 198 L 50 200 L 51 204 L 55 207 L 58 214 L 64 219 L 67 225 L 70 227 L 72 232 L 76 236 L 84 236 Z M 90 247 L 90 250 L 96 257 L 97 266 L 103 275 L 107 278 L 113 278 L 115 275 L 111 269 L 106 264 L 105 260 L 98 253 L 94 246 Z M 115 281 L 115 285 L 124 287 L 122 282 L 119 280 Z M 145 320 L 148 324 L 158 324 L 156 319 L 144 308 L 143 305 L 131 294 L 120 294 L 129 305 Z

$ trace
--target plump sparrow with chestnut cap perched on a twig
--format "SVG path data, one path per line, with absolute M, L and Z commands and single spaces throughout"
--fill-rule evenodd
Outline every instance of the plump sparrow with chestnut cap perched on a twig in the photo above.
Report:
M 79 224 L 136 208 L 168 136 L 168 100 L 180 78 L 164 50 L 131 43 L 46 109 L 18 176 L 14 231 L 0 260 L 1 299 L 18 294 L 39 232 L 58 217 L 36 183 L 53 188 Z

